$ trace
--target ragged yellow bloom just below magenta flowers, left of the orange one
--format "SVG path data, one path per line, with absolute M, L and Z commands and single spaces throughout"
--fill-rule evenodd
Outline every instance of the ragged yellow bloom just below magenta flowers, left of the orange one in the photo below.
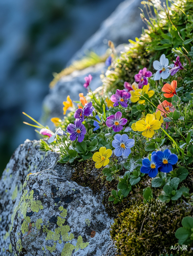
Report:
M 141 95 L 147 94 L 149 98 L 151 98 L 154 95 L 154 91 L 149 91 L 149 84 L 146 86 L 143 86 L 143 89 L 136 89 L 135 91 L 130 91 L 131 93 L 131 102 L 135 103 L 138 101 L 139 104 L 145 103 L 145 100 Z

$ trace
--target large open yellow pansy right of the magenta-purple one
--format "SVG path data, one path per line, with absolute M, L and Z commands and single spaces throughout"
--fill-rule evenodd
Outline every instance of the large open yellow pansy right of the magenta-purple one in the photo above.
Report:
M 155 119 L 153 114 L 147 114 L 145 120 L 139 120 L 135 124 L 137 131 L 142 132 L 142 135 L 147 138 L 152 138 L 154 130 L 159 130 L 161 123 Z

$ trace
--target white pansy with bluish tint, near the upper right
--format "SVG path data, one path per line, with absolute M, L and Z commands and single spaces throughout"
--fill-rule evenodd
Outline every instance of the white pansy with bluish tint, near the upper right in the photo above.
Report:
M 168 69 L 169 60 L 165 57 L 165 54 L 162 54 L 160 57 L 160 61 L 155 60 L 153 63 L 153 67 L 157 70 L 154 80 L 159 80 L 161 78 L 166 79 L 169 76 Z

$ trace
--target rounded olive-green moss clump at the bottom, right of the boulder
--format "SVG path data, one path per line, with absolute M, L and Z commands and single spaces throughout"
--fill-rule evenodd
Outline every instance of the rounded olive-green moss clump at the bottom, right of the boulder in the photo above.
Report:
M 141 256 L 143 248 L 143 255 L 158 256 L 170 253 L 170 246 L 177 245 L 175 232 L 183 217 L 191 215 L 192 209 L 182 203 L 166 206 L 154 199 L 148 204 L 138 202 L 118 216 L 110 233 L 119 255 Z

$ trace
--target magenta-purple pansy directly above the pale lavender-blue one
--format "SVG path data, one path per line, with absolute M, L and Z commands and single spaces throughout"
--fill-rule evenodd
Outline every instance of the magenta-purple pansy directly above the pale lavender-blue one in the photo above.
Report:
M 112 127 L 114 132 L 120 132 L 123 129 L 123 125 L 126 124 L 127 120 L 121 118 L 122 113 L 118 111 L 115 115 L 111 115 L 106 118 L 106 126 Z

